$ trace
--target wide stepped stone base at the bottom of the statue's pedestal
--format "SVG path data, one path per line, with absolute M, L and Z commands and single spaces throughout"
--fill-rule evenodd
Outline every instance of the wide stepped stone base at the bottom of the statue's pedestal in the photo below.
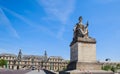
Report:
M 99 62 L 70 62 L 67 71 L 59 74 L 114 74 L 111 71 L 101 70 L 102 64 Z

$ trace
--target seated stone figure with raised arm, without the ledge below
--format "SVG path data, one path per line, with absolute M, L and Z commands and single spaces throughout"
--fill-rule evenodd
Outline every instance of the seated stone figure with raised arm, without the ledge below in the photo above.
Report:
M 82 24 L 82 16 L 79 17 L 79 22 L 75 25 L 74 29 L 74 38 L 82 37 L 88 38 L 88 22 L 86 26 Z

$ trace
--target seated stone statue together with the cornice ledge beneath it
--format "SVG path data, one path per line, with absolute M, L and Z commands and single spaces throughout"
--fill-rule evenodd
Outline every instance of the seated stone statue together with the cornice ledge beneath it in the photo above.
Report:
M 73 29 L 73 41 L 71 42 L 70 46 L 73 45 L 76 42 L 89 42 L 89 43 L 96 43 L 96 40 L 89 36 L 88 32 L 88 21 L 84 25 L 82 23 L 82 16 L 79 17 L 79 22 L 76 23 L 74 29 Z

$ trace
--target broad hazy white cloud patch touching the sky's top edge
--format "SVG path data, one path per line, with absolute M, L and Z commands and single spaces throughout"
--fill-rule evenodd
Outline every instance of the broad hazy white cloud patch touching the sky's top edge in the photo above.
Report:
M 48 17 L 54 17 L 66 24 L 70 14 L 74 11 L 75 0 L 37 0 L 43 6 Z M 47 18 L 48 18 L 47 17 Z

